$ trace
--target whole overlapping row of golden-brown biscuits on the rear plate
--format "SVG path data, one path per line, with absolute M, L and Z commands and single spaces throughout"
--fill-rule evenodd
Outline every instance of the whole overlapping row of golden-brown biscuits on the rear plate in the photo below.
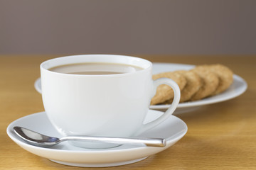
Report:
M 181 89 L 182 102 L 198 101 L 209 96 L 220 94 L 233 83 L 233 72 L 222 64 L 198 65 L 191 70 L 178 70 L 154 74 L 153 79 L 166 77 L 176 81 Z M 174 91 L 170 86 L 160 85 L 151 105 L 171 104 Z

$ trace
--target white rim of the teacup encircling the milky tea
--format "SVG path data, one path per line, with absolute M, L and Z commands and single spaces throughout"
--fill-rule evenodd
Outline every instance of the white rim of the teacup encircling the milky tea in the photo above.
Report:
M 122 62 L 111 62 L 108 61 L 109 59 L 115 60 L 119 59 Z M 121 59 L 122 58 L 122 59 Z M 101 61 L 97 61 L 103 59 Z M 122 74 L 68 74 L 68 73 L 60 73 L 60 72 L 53 72 L 50 71 L 50 68 L 58 67 L 65 64 L 77 64 L 77 63 L 85 63 L 88 60 L 88 62 L 105 62 L 105 63 L 117 63 L 117 64 L 129 64 L 136 67 L 141 67 L 141 70 L 138 70 L 137 72 L 126 72 Z M 90 60 L 90 61 L 89 61 Z M 151 69 L 152 63 L 149 60 L 145 60 L 139 57 L 133 57 L 128 55 L 69 55 L 64 57 L 56 57 L 50 60 L 46 60 L 40 64 L 41 71 L 49 72 L 51 74 L 62 74 L 67 76 L 73 76 L 73 77 L 114 77 L 114 76 L 120 76 L 120 75 L 127 75 L 127 74 L 134 74 L 138 72 L 146 72 L 146 70 Z

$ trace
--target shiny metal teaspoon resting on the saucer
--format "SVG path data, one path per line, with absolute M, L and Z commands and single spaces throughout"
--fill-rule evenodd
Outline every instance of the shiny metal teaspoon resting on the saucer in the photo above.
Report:
M 66 136 L 62 138 L 50 137 L 42 135 L 38 132 L 28 130 L 26 128 L 15 126 L 14 132 L 18 137 L 28 142 L 30 145 L 37 147 L 51 147 L 60 142 L 67 140 L 86 141 L 86 142 L 103 142 L 119 145 L 146 145 L 147 147 L 165 147 L 166 140 L 161 138 L 146 138 L 146 137 L 93 137 L 93 136 Z

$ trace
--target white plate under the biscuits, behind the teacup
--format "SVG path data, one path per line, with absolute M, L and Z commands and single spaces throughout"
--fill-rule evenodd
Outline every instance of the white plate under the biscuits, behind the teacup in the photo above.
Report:
M 158 74 L 160 72 L 172 72 L 175 70 L 183 69 L 188 70 L 195 67 L 194 65 L 188 65 L 188 64 L 171 64 L 171 63 L 153 63 L 153 74 Z M 221 101 L 227 101 L 231 98 L 235 98 L 237 96 L 240 96 L 242 93 L 245 92 L 247 89 L 247 84 L 244 79 L 239 77 L 238 75 L 233 75 L 234 82 L 230 86 L 229 89 L 224 91 L 221 94 L 218 94 L 216 96 L 211 96 L 208 98 L 204 98 L 200 101 L 191 101 L 191 102 L 184 102 L 179 103 L 176 111 L 174 114 L 178 113 L 186 113 L 188 111 L 193 111 L 194 109 L 198 108 L 198 106 L 203 106 L 207 104 L 212 103 L 218 103 Z M 41 93 L 41 79 L 38 78 L 34 84 L 36 91 Z M 170 105 L 155 105 L 150 106 L 150 109 L 159 110 L 159 111 L 165 111 L 167 108 L 169 108 Z

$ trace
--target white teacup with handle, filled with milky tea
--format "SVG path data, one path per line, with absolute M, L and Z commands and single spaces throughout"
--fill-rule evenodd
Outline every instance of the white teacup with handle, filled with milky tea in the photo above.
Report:
M 151 72 L 151 62 L 123 55 L 74 55 L 48 60 L 41 64 L 46 114 L 62 135 L 138 135 L 166 120 L 180 99 L 174 81 L 166 78 L 153 81 Z M 160 84 L 174 89 L 174 101 L 160 118 L 144 125 L 151 98 Z M 114 146 L 73 144 L 88 148 Z

